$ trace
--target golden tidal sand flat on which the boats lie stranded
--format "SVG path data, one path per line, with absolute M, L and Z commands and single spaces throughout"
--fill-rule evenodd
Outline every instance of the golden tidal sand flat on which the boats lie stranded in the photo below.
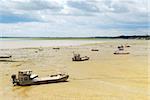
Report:
M 114 55 L 128 43 L 129 55 Z M 81 46 L 1 49 L 12 61 L 0 61 L 0 100 L 148 100 L 150 48 L 146 40 L 112 40 Z M 91 51 L 96 48 L 99 51 Z M 72 62 L 73 52 L 89 61 Z M 31 69 L 39 77 L 68 73 L 68 82 L 34 86 L 13 86 L 11 75 Z

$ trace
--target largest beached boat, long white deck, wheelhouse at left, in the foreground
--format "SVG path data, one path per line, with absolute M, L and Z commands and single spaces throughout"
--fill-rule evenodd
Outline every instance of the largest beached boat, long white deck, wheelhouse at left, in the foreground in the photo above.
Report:
M 66 74 L 56 74 L 39 78 L 38 75 L 32 74 L 30 70 L 22 70 L 18 72 L 18 79 L 15 74 L 11 76 L 14 85 L 39 85 L 48 83 L 65 82 L 69 78 Z

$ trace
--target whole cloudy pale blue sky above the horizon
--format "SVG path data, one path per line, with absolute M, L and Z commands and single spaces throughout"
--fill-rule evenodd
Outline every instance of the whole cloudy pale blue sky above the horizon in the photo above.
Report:
M 0 35 L 146 35 L 149 6 L 149 0 L 0 0 Z

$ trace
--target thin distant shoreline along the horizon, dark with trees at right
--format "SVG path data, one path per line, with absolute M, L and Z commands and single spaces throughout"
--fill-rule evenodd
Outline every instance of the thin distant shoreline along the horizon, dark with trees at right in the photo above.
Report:
M 133 36 L 96 36 L 96 37 L 0 37 L 0 38 L 28 38 L 28 39 L 143 39 L 150 40 L 150 35 L 133 35 Z

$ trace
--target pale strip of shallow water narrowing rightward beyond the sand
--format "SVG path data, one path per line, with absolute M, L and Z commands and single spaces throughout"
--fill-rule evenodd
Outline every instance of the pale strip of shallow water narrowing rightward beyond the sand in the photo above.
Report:
M 52 39 L 52 40 L 32 40 L 32 39 L 0 39 L 0 49 L 11 48 L 31 48 L 31 47 L 51 47 L 51 46 L 77 46 L 91 43 L 103 43 L 107 40 L 71 40 L 71 39 Z

